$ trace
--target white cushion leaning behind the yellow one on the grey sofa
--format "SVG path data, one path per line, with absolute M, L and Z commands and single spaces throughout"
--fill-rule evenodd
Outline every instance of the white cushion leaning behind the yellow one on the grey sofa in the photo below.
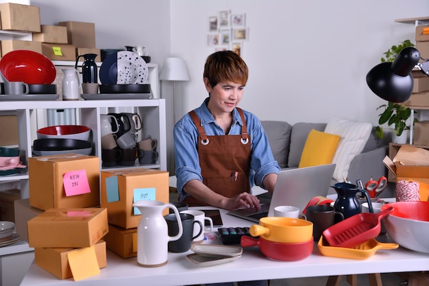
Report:
M 333 117 L 328 121 L 325 132 L 341 136 L 332 158 L 332 163 L 336 164 L 333 176 L 335 180 L 343 182 L 343 178 L 347 178 L 350 163 L 356 155 L 362 153 L 371 129 L 371 123 L 353 122 L 339 117 Z

